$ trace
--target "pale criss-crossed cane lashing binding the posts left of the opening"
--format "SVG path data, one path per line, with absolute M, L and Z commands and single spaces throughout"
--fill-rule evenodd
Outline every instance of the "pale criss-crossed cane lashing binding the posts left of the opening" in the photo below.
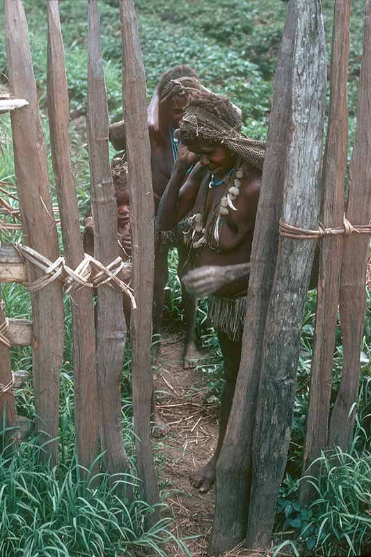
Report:
M 15 248 L 22 258 L 26 259 L 34 267 L 41 269 L 44 273 L 35 281 L 25 284 L 30 292 L 41 290 L 57 279 L 63 281 L 65 292 L 68 294 L 72 294 L 75 290 L 79 290 L 79 288 L 99 288 L 106 284 L 114 290 L 125 292 L 132 302 L 132 308 L 136 308 L 132 288 L 130 288 L 129 283 L 125 283 L 122 278 L 118 277 L 118 274 L 121 272 L 124 274 L 126 272 L 127 277 L 124 276 L 123 278 L 129 278 L 132 272 L 131 262 L 123 261 L 122 258 L 118 257 L 109 265 L 103 265 L 99 260 L 85 254 L 84 259 L 76 269 L 71 269 L 62 256 L 58 257 L 55 261 L 50 261 L 29 246 L 15 244 Z

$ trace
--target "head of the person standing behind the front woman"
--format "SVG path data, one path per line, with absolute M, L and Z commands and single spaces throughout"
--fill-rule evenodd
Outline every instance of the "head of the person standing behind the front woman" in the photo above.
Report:
M 188 65 L 177 65 L 161 76 L 158 86 L 160 109 L 173 127 L 179 126 L 190 92 L 199 88 L 198 77 Z

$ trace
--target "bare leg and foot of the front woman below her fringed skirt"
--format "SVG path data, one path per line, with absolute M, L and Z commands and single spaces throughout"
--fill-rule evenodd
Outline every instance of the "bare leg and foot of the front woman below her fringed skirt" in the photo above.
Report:
M 233 342 L 226 334 L 219 332 L 218 340 L 223 354 L 223 372 L 226 383 L 221 396 L 221 407 L 219 417 L 219 437 L 214 456 L 202 468 L 194 474 L 194 486 L 200 488 L 200 492 L 207 492 L 215 481 L 216 461 L 221 452 L 224 435 L 226 434 L 230 408 L 232 407 L 235 384 L 241 361 L 242 341 Z

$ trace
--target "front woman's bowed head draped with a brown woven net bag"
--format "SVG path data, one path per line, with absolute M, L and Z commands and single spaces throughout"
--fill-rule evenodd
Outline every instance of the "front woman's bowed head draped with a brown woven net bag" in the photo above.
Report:
M 260 171 L 265 143 L 241 132 L 241 114 L 229 99 L 210 91 L 192 93 L 177 136 L 212 173 L 222 173 L 241 157 Z

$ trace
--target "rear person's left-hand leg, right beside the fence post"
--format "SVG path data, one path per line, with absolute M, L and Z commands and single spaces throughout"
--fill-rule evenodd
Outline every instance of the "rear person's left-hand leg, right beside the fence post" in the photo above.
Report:
M 161 350 L 160 326 L 164 309 L 164 292 L 168 281 L 168 246 L 157 243 L 155 246 L 155 284 L 153 292 L 152 353 L 157 356 Z

